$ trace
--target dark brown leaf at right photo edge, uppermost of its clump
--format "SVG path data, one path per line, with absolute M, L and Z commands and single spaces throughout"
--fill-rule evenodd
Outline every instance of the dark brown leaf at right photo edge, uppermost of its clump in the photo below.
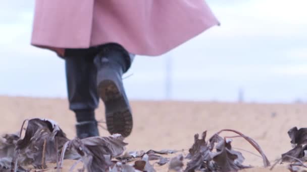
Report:
M 307 143 L 307 128 L 293 127 L 288 131 L 288 135 L 291 138 L 292 144 L 306 144 Z

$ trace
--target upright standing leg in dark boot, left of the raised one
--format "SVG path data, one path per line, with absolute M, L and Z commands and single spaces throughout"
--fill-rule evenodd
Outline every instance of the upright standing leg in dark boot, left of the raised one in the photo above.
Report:
M 70 110 L 75 112 L 79 138 L 98 136 L 94 110 L 99 103 L 96 67 L 92 58 L 66 57 L 66 78 Z

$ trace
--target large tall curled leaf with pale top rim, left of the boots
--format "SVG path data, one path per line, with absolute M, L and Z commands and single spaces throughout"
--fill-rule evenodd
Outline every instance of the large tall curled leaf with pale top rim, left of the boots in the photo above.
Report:
M 58 147 L 56 147 L 56 139 Z M 16 143 L 18 162 L 22 165 L 42 165 L 42 150 L 45 145 L 45 162 L 55 163 L 64 143 L 68 140 L 59 125 L 52 120 L 34 118 L 28 120 L 25 136 Z

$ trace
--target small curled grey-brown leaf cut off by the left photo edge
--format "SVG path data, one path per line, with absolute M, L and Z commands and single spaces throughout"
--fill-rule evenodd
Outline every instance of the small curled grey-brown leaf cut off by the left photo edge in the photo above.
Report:
M 19 136 L 17 134 L 5 134 L 0 138 L 0 158 L 14 157 L 18 139 Z

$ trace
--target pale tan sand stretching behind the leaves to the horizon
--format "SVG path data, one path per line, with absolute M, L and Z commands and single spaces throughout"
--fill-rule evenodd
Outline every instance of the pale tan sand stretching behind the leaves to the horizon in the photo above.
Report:
M 17 132 L 27 118 L 48 118 L 59 123 L 69 138 L 75 137 L 74 114 L 66 99 L 0 97 L 0 133 Z M 134 116 L 133 133 L 127 139 L 127 150 L 176 149 L 183 154 L 193 143 L 193 135 L 205 130 L 211 136 L 221 129 L 235 129 L 255 139 L 271 162 L 291 148 L 287 131 L 294 126 L 306 127 L 307 106 L 304 104 L 239 104 L 220 102 L 131 101 Z M 96 111 L 97 120 L 104 120 L 104 107 Z M 100 135 L 109 133 L 100 129 Z M 228 134 L 230 136 L 234 134 Z M 257 154 L 246 141 L 233 139 L 233 147 Z M 262 159 L 242 151 L 246 165 L 259 166 L 243 171 L 262 169 Z M 167 165 L 157 166 L 166 171 Z M 277 166 L 275 171 L 288 171 Z

